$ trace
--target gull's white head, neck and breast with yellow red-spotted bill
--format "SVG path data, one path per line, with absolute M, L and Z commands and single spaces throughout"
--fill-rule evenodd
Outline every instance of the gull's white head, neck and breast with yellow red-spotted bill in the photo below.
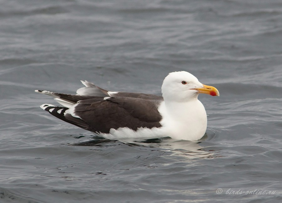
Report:
M 206 132 L 207 117 L 199 93 L 219 96 L 215 87 L 203 85 L 189 72 L 172 72 L 162 85 L 163 105 L 160 106 L 162 126 L 174 139 L 201 139 Z

